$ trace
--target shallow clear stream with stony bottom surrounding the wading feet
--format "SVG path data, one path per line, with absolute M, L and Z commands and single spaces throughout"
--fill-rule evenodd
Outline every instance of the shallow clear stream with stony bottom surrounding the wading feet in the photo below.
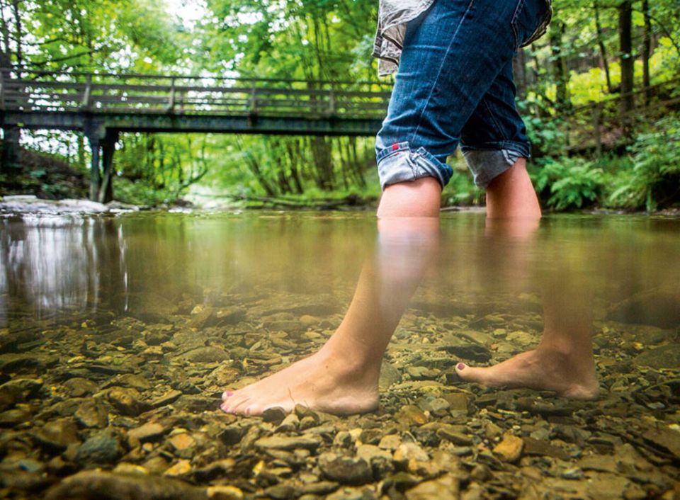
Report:
M 316 351 L 358 282 L 376 328 L 401 317 L 377 411 L 219 410 Z M 6 215 L 0 497 L 680 498 L 679 304 L 670 217 Z M 592 356 L 595 399 L 455 374 L 544 331 Z

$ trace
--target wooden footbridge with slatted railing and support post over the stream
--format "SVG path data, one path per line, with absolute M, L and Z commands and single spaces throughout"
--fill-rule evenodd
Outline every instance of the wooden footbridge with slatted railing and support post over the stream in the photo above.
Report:
M 0 69 L 0 125 L 77 130 L 92 150 L 90 197 L 111 200 L 120 132 L 375 135 L 391 84 Z

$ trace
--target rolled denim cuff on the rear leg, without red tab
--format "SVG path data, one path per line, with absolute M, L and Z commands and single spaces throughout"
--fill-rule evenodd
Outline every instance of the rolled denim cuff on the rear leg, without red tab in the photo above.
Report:
M 489 183 L 515 164 L 519 158 L 531 157 L 529 144 L 499 142 L 498 147 L 464 146 L 460 148 L 465 162 L 472 172 L 475 184 L 487 188 Z

